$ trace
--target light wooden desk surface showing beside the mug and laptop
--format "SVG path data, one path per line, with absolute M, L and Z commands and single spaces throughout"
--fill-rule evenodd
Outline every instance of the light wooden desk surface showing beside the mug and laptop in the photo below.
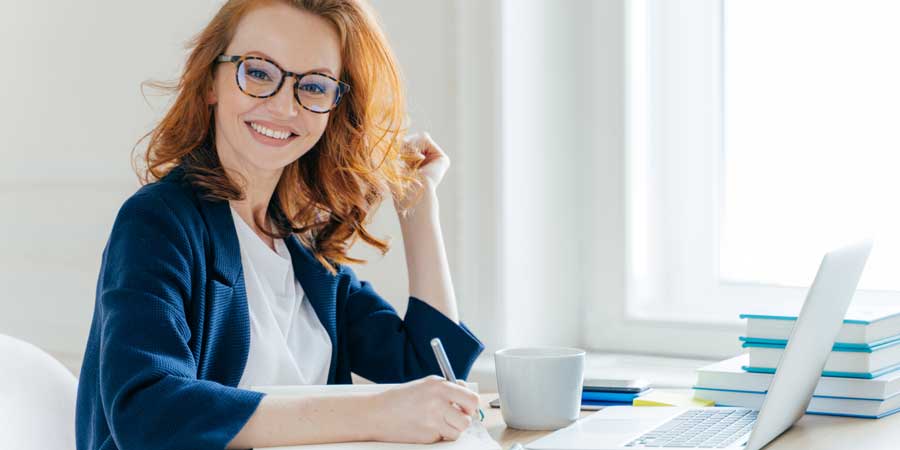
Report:
M 506 428 L 500 410 L 488 405 L 488 402 L 495 398 L 496 393 L 481 395 L 481 407 L 485 414 L 484 425 L 491 437 L 499 442 L 504 450 L 516 442 L 527 444 L 547 434 L 546 431 Z M 581 417 L 591 413 L 582 411 Z M 898 448 L 900 448 L 900 413 L 877 420 L 806 415 L 793 428 L 765 447 L 765 450 Z

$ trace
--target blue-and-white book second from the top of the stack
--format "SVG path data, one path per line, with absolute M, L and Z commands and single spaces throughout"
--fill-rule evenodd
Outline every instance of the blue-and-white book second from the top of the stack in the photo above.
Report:
M 774 372 L 784 346 L 744 342 L 750 355 L 746 370 Z M 875 378 L 900 369 L 900 341 L 869 349 L 836 348 L 828 355 L 822 375 L 829 377 Z

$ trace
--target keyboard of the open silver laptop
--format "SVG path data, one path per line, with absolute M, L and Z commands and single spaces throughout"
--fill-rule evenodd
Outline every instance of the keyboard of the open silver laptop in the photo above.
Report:
M 753 429 L 757 411 L 691 409 L 629 442 L 626 447 L 722 448 Z

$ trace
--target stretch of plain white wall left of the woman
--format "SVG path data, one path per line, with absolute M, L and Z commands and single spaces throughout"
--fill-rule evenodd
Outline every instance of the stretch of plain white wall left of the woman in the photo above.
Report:
M 137 187 L 130 153 L 159 117 L 210 2 L 5 2 L 0 16 L 0 333 L 77 368 L 100 255 Z M 172 14 L 172 10 L 179 11 Z

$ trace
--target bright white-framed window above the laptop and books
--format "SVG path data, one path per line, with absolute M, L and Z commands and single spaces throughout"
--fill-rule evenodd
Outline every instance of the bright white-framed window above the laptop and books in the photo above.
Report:
M 900 298 L 900 4 L 629 4 L 626 318 L 739 329 L 873 236 L 857 301 Z

